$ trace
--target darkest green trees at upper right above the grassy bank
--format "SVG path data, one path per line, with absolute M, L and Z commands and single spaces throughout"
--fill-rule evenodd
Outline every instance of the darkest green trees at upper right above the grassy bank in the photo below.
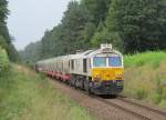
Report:
M 125 52 L 166 48 L 163 32 L 166 23 L 164 1 L 113 0 L 106 27 L 110 32 L 116 32 L 121 37 Z

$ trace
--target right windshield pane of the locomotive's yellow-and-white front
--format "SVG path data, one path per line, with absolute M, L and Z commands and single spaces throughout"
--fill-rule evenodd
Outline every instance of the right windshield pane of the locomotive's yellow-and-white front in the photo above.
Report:
M 108 58 L 108 66 L 110 67 L 122 67 L 121 57 L 110 57 Z

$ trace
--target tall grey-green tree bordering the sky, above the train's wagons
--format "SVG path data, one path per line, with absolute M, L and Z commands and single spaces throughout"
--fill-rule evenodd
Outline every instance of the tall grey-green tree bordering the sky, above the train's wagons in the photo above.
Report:
M 77 1 L 69 3 L 68 10 L 62 19 L 62 32 L 60 40 L 63 40 L 65 53 L 74 53 L 77 49 L 84 49 L 89 43 L 82 40 L 82 31 L 91 17 Z

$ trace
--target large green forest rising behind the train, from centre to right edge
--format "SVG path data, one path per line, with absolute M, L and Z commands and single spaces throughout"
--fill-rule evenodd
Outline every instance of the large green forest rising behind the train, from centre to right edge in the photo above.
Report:
M 166 49 L 166 0 L 72 0 L 59 26 L 30 43 L 27 62 L 112 43 L 123 53 Z

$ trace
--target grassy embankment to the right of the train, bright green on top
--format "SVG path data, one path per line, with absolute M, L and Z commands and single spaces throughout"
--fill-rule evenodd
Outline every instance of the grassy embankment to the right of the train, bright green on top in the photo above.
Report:
M 166 108 L 166 52 L 125 56 L 124 93 Z

